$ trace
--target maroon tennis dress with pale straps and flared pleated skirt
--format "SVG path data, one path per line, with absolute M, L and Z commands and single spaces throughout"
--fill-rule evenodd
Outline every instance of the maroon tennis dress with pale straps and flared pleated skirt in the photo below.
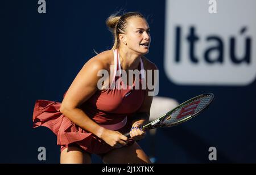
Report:
M 118 50 L 114 52 L 113 83 L 121 84 L 122 79 L 116 76 L 121 70 Z M 142 59 L 138 70 L 144 70 Z M 131 129 L 131 114 L 141 107 L 146 90 L 135 89 L 136 83 L 141 84 L 145 75 L 142 71 L 139 81 L 135 80 L 133 87 L 109 88 L 96 91 L 89 100 L 80 106 L 88 117 L 106 129 L 127 133 Z M 119 81 L 117 83 L 117 81 Z M 121 83 L 120 83 L 121 82 Z M 64 95 L 65 96 L 65 95 Z M 49 100 L 36 100 L 33 113 L 33 127 L 46 126 L 57 136 L 57 144 L 61 150 L 70 144 L 76 144 L 89 153 L 102 154 L 114 148 L 96 135 L 81 129 L 60 112 L 61 103 Z

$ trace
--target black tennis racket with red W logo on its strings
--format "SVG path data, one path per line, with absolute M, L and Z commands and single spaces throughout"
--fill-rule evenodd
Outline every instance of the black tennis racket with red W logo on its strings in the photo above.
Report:
M 170 110 L 163 116 L 156 118 L 154 121 L 142 126 L 142 130 L 150 130 L 157 127 L 171 127 L 179 125 L 189 119 L 196 117 L 198 114 L 207 109 L 214 99 L 213 93 L 204 93 L 193 97 Z M 130 138 L 130 133 L 124 134 Z

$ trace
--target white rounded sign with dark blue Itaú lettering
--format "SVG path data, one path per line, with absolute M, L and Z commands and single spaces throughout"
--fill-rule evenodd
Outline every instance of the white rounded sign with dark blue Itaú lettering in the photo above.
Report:
M 179 85 L 246 86 L 256 76 L 256 1 L 167 0 L 164 70 Z

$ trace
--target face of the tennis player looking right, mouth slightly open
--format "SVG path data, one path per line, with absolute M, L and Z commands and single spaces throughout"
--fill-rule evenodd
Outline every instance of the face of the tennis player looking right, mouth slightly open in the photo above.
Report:
M 129 49 L 147 54 L 150 47 L 150 28 L 145 19 L 132 17 L 127 21 L 125 42 Z

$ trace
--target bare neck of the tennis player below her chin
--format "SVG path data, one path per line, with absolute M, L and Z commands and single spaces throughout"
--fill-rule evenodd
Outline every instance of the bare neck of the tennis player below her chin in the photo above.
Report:
M 138 68 L 141 55 L 136 54 L 134 52 L 130 52 L 129 50 L 123 49 L 122 47 L 120 47 L 118 50 L 120 63 L 123 70 L 127 71 Z

